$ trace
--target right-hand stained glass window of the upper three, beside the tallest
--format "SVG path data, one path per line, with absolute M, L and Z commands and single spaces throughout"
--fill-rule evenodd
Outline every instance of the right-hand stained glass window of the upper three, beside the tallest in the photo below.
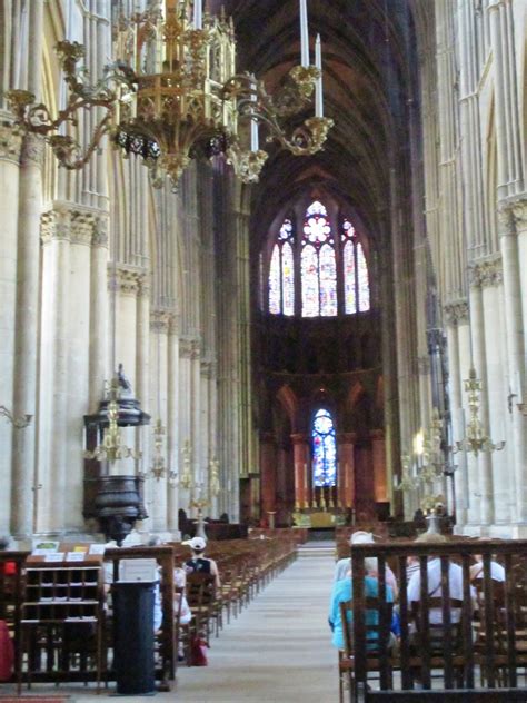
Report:
M 342 274 L 345 311 L 347 315 L 364 313 L 370 308 L 368 264 L 362 245 L 349 220 L 342 222 Z

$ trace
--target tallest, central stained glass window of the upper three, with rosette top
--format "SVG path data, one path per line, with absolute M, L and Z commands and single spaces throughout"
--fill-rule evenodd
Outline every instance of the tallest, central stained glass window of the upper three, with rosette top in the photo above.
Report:
M 301 253 L 302 316 L 337 315 L 337 265 L 328 214 L 319 200 L 306 210 Z

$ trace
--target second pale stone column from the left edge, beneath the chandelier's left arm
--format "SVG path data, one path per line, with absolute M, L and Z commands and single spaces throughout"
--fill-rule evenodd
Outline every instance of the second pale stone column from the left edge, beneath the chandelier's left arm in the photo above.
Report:
M 37 415 L 37 349 L 39 326 L 40 216 L 42 212 L 43 140 L 27 135 L 22 143 L 17 260 L 17 321 L 14 344 L 16 416 Z M 12 519 L 16 536 L 33 532 L 33 496 L 37 484 L 34 442 L 37 420 L 13 434 Z

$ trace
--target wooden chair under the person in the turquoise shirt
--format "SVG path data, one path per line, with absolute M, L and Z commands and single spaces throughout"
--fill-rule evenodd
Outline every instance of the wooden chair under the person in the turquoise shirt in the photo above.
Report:
M 355 700 L 355 647 L 352 633 L 354 602 L 342 601 L 339 604 L 342 623 L 344 651 L 339 652 L 339 700 L 344 701 L 345 684 L 349 689 L 350 701 Z M 368 672 L 377 672 L 379 676 L 391 681 L 392 663 L 389 661 L 394 645 L 391 621 L 394 603 L 387 603 L 377 597 L 365 598 L 366 610 L 366 648 Z

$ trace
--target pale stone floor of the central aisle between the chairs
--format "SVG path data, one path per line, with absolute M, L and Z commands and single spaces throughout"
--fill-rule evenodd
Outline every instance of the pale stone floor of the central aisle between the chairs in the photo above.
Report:
M 327 623 L 334 565 L 330 556 L 299 557 L 211 640 L 208 666 L 178 669 L 172 695 L 183 703 L 337 701 Z

